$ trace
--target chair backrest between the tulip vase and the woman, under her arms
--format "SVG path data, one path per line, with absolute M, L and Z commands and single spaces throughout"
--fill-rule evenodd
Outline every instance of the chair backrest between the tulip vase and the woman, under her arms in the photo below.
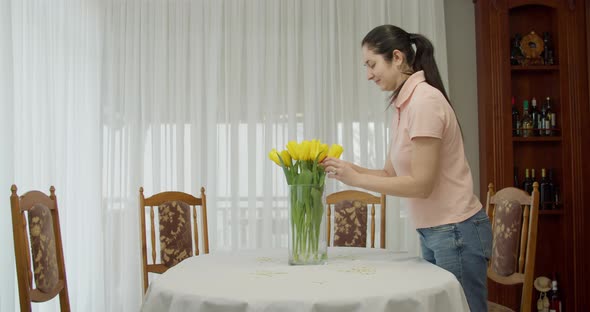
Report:
M 326 196 L 328 243 L 333 246 L 375 248 L 375 205 L 380 207 L 380 247 L 385 248 L 385 195 L 375 196 L 363 191 L 340 191 Z M 370 215 L 369 215 L 369 207 Z M 334 210 L 334 211 L 332 211 Z M 334 221 L 332 222 L 332 214 Z M 332 223 L 334 239 L 331 240 Z M 370 224 L 369 224 L 370 223 Z M 367 229 L 370 243 L 367 244 Z

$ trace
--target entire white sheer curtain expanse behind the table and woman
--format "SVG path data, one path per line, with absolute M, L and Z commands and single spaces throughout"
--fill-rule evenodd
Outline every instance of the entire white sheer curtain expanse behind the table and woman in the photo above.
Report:
M 287 189 L 271 148 L 318 138 L 342 144 L 347 160 L 382 167 L 391 114 L 360 55 L 373 27 L 425 34 L 447 72 L 437 0 L 19 0 L 0 8 L 0 142 L 12 147 L 2 153 L 5 203 L 12 183 L 56 186 L 79 311 L 139 307 L 140 186 L 147 195 L 204 186 L 212 252 L 284 247 Z M 328 183 L 328 192 L 342 188 Z M 416 254 L 403 205 L 389 198 L 388 206 L 388 248 Z M 12 226 L 0 220 L 2 246 L 11 247 Z M 9 251 L 0 254 L 9 281 L 2 311 L 18 310 Z

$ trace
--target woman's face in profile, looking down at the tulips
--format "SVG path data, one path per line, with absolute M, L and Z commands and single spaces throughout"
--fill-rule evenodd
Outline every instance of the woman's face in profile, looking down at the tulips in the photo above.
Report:
M 403 63 L 403 54 L 398 50 L 393 52 L 393 59 L 388 63 L 382 55 L 373 53 L 364 45 L 363 61 L 367 68 L 367 79 L 373 80 L 382 91 L 396 90 L 407 77 L 399 70 Z

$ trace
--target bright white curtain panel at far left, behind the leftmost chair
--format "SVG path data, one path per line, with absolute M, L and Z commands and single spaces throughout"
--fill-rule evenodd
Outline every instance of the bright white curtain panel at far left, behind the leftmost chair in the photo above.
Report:
M 98 13 L 91 1 L 3 1 L 0 7 L 2 311 L 20 309 L 9 209 L 13 183 L 19 194 L 55 186 L 72 309 L 102 308 Z M 35 307 L 55 311 L 58 304 Z

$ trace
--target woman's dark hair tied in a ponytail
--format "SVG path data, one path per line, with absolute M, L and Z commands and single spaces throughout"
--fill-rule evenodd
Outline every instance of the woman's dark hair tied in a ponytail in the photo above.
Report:
M 416 45 L 415 52 L 412 44 Z M 373 28 L 365 36 L 361 46 L 382 55 L 389 63 L 393 60 L 393 51 L 399 50 L 406 56 L 406 62 L 413 70 L 407 74 L 423 70 L 426 82 L 437 88 L 451 104 L 434 60 L 434 47 L 426 37 L 410 34 L 397 26 L 381 25 Z M 393 92 L 391 99 L 397 96 L 400 89 L 401 86 Z

